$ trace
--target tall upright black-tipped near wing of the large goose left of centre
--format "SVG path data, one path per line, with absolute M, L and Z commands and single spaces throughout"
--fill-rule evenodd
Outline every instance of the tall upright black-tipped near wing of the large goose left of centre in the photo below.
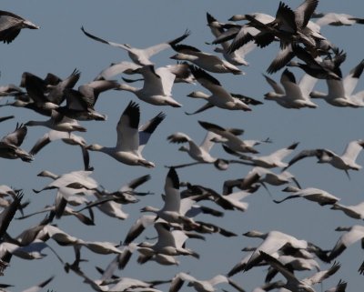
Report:
M 138 126 L 140 118 L 139 105 L 130 101 L 116 126 L 118 151 L 137 151 L 139 147 Z

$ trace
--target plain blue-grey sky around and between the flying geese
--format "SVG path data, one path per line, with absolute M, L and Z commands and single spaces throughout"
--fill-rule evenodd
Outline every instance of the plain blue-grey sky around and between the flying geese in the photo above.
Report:
M 292 8 L 297 7 L 301 1 L 289 1 Z M 234 14 L 248 14 L 263 12 L 275 15 L 278 1 L 10 1 L 3 0 L 1 9 L 21 15 L 35 25 L 39 30 L 23 30 L 10 45 L 1 44 L 1 77 L 0 85 L 13 83 L 19 85 L 23 72 L 28 71 L 37 76 L 45 76 L 48 72 L 57 76 L 66 77 L 75 68 L 81 72 L 76 86 L 87 83 L 111 63 L 128 61 L 126 52 L 108 45 L 97 43 L 83 35 L 82 25 L 91 34 L 105 38 L 116 43 L 127 43 L 136 47 L 146 47 L 173 39 L 182 35 L 186 29 L 191 35 L 183 42 L 199 49 L 212 52 L 213 47 L 206 45 L 211 42 L 211 35 L 207 27 L 206 13 L 214 15 L 220 21 Z M 318 11 L 348 13 L 350 15 L 364 16 L 363 4 L 360 1 L 320 1 Z M 325 26 L 321 33 L 331 42 L 347 52 L 346 62 L 341 66 L 345 76 L 349 70 L 359 64 L 363 55 L 363 26 L 349 27 Z M 245 76 L 217 75 L 215 77 L 228 91 L 251 96 L 263 101 L 263 96 L 271 88 L 264 77 L 270 61 L 278 52 L 278 45 L 269 45 L 265 49 L 256 49 L 246 59 L 248 67 L 242 67 Z M 157 66 L 173 64 L 169 56 L 174 55 L 172 50 L 166 50 L 152 57 Z M 303 75 L 298 68 L 292 69 L 297 79 Z M 271 76 L 279 80 L 281 71 Z M 142 86 L 140 84 L 140 86 Z M 360 80 L 357 91 L 364 89 Z M 326 84 L 319 81 L 315 89 L 326 92 Z M 109 91 L 102 94 L 96 103 L 96 110 L 107 115 L 105 122 L 81 122 L 86 126 L 87 132 L 82 135 L 86 141 L 105 146 L 116 144 L 116 123 L 130 100 L 140 105 L 141 122 L 156 116 L 159 111 L 167 114 L 165 121 L 157 127 L 143 156 L 156 163 L 154 169 L 138 166 L 126 166 L 102 153 L 93 152 L 91 165 L 95 167 L 92 174 L 100 185 L 113 191 L 137 176 L 150 174 L 152 179 L 140 190 L 150 190 L 155 195 L 143 197 L 136 205 L 124 206 L 123 210 L 129 214 L 125 221 L 107 217 L 96 211 L 96 226 L 86 227 L 74 217 L 62 217 L 56 221 L 58 227 L 68 234 L 84 240 L 120 242 L 124 239 L 128 228 L 139 216 L 139 209 L 143 206 L 162 206 L 160 194 L 167 175 L 165 165 L 175 165 L 192 162 L 186 153 L 177 151 L 177 145 L 169 144 L 167 136 L 175 132 L 183 132 L 191 136 L 197 144 L 204 138 L 206 131 L 198 125 L 198 120 L 216 123 L 220 126 L 238 127 L 245 129 L 246 139 L 265 139 L 270 137 L 274 143 L 258 146 L 261 154 L 269 154 L 279 148 L 289 146 L 292 142 L 299 142 L 296 153 L 302 149 L 328 147 L 341 154 L 349 141 L 364 138 L 363 109 L 339 108 L 329 106 L 324 101 L 317 101 L 317 109 L 286 109 L 271 101 L 264 101 L 264 105 L 252 107 L 251 112 L 227 111 L 219 108 L 210 109 L 196 116 L 186 116 L 185 111 L 191 112 L 203 105 L 203 101 L 187 97 L 191 91 L 205 89 L 199 85 L 177 84 L 173 87 L 173 96 L 182 108 L 157 107 L 142 102 L 128 92 Z M 7 99 L 0 100 L 5 103 Z M 11 100 L 11 99 L 9 99 Z M 0 134 L 4 136 L 15 129 L 16 122 L 25 123 L 28 120 L 45 120 L 29 110 L 5 106 L 0 108 L 0 116 L 15 115 L 15 119 L 0 124 Z M 29 127 L 23 148 L 29 150 L 38 138 L 48 130 L 45 127 Z M 36 176 L 42 170 L 50 170 L 56 174 L 64 174 L 83 168 L 82 156 L 79 147 L 68 146 L 62 142 L 55 142 L 46 146 L 31 164 L 21 160 L 1 159 L 0 184 L 22 188 L 25 198 L 31 200 L 25 212 L 33 212 L 47 204 L 52 204 L 56 191 L 46 191 L 35 195 L 32 189 L 39 189 L 49 183 L 47 178 Z M 221 146 L 214 146 L 212 155 L 218 157 L 228 156 Z M 288 159 L 291 156 L 288 157 Z M 287 160 L 288 160 L 287 159 Z M 364 155 L 359 155 L 359 165 L 364 165 Z M 209 186 L 221 191 L 226 179 L 246 176 L 250 167 L 232 165 L 227 171 L 218 171 L 214 166 L 202 165 L 177 169 L 181 181 Z M 345 173 L 328 165 L 318 165 L 314 158 L 300 161 L 289 169 L 303 187 L 318 187 L 339 196 L 344 205 L 356 205 L 363 198 L 363 172 L 350 172 L 349 180 Z M 284 186 L 271 186 L 270 190 L 277 199 L 284 197 L 280 190 Z M 261 189 L 247 199 L 250 204 L 245 213 L 239 211 L 226 211 L 223 218 L 202 216 L 198 219 L 215 223 L 228 230 L 236 232 L 238 237 L 227 238 L 217 234 L 207 235 L 206 242 L 188 240 L 190 247 L 200 254 L 200 259 L 182 258 L 179 267 L 162 267 L 156 263 L 140 266 L 136 264 L 136 255 L 131 258 L 125 270 L 119 275 L 123 277 L 137 277 L 140 279 L 168 279 L 177 272 L 190 272 L 198 279 L 207 279 L 217 274 L 227 273 L 238 261 L 244 257 L 241 248 L 257 246 L 260 240 L 242 237 L 248 230 L 258 229 L 263 232 L 279 230 L 300 239 L 311 241 L 322 248 L 334 247 L 340 233 L 334 231 L 339 226 L 352 226 L 361 224 L 358 220 L 345 216 L 342 212 L 330 210 L 328 206 L 319 206 L 303 199 L 290 200 L 280 205 L 271 201 L 268 193 Z M 208 204 L 207 204 L 208 205 Z M 213 206 L 213 205 L 208 205 Z M 26 227 L 38 223 L 43 216 L 34 216 L 24 221 L 13 222 L 9 233 L 13 236 L 19 234 Z M 138 241 L 145 236 L 156 235 L 155 229 L 150 227 Z M 74 260 L 72 247 L 59 247 L 52 240 L 49 241 L 65 261 Z M 82 283 L 82 279 L 73 273 L 66 274 L 50 251 L 45 251 L 48 257 L 38 261 L 25 261 L 14 257 L 11 267 L 5 270 L 5 277 L 1 282 L 15 285 L 14 291 L 56 275 L 54 281 L 48 286 L 54 291 L 88 291 L 91 288 Z M 95 255 L 82 249 L 82 257 L 89 259 L 81 268 L 89 277 L 97 278 L 96 265 L 106 267 L 115 257 Z M 329 288 L 343 279 L 349 282 L 347 291 L 358 291 L 363 286 L 363 276 L 357 272 L 364 260 L 364 254 L 359 243 L 349 247 L 338 257 L 342 267 L 339 272 L 325 281 L 323 287 Z M 330 267 L 322 263 L 322 269 Z M 238 273 L 234 279 L 247 291 L 263 284 L 266 267 L 257 267 L 246 273 Z M 305 277 L 309 273 L 298 274 Z M 222 286 L 221 286 L 222 287 Z M 226 287 L 229 291 L 230 287 Z M 168 287 L 161 287 L 167 290 Z M 182 290 L 187 291 L 186 285 Z M 320 287 L 317 286 L 318 291 Z

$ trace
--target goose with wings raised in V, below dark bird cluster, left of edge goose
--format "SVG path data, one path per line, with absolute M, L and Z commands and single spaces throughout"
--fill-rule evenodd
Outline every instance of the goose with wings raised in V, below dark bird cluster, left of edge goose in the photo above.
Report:
M 279 106 L 286 108 L 318 107 L 309 100 L 309 93 L 312 91 L 313 86 L 315 86 L 318 79 L 307 74 L 303 76 L 299 84 L 297 84 L 293 73 L 286 69 L 280 77 L 280 83 L 283 86 L 282 88 L 268 76 L 264 77 L 268 84 L 274 89 L 274 92 L 269 92 L 265 95 L 265 99 L 274 100 Z

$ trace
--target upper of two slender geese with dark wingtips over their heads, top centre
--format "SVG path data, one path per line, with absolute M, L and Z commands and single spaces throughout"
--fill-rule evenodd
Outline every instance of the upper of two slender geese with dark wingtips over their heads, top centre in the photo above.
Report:
M 207 54 L 191 45 L 172 45 L 177 52 L 170 58 L 174 60 L 189 61 L 204 70 L 213 73 L 232 73 L 234 75 L 245 74 L 236 65 L 221 60 L 217 55 Z

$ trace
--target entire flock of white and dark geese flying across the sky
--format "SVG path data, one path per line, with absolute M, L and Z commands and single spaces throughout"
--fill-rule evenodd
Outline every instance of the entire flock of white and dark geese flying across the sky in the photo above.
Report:
M 158 285 L 167 285 L 169 292 L 177 292 L 187 282 L 198 292 L 212 292 L 217 284 L 226 283 L 240 292 L 244 292 L 244 285 L 236 282 L 236 274 L 247 273 L 252 268 L 268 266 L 265 283 L 254 289 L 262 292 L 277 289 L 278 291 L 316 291 L 317 284 L 329 277 L 335 277 L 340 264 L 336 260 L 346 248 L 362 240 L 364 243 L 364 226 L 338 227 L 337 231 L 344 232 L 333 247 L 319 247 L 305 239 L 298 239 L 278 230 L 262 233 L 251 230 L 245 237 L 259 237 L 262 242 L 258 247 L 246 247 L 247 252 L 238 263 L 231 265 L 229 271 L 221 271 L 215 277 L 201 280 L 187 273 L 177 271 L 175 277 L 165 280 L 144 281 L 130 277 L 116 276 L 118 269 L 125 269 L 133 254 L 137 255 L 139 264 L 148 261 L 159 265 L 177 266 L 180 257 L 199 258 L 197 251 L 188 248 L 188 242 L 193 239 L 204 240 L 207 234 L 212 237 L 237 237 L 234 231 L 227 230 L 208 221 L 197 219 L 200 214 L 206 216 L 223 216 L 224 210 L 244 212 L 248 203 L 244 201 L 252 196 L 259 187 L 268 190 L 271 186 L 286 186 L 283 191 L 289 195 L 281 200 L 274 199 L 280 204 L 288 199 L 303 197 L 316 202 L 320 206 L 329 205 L 333 210 L 341 210 L 345 215 L 354 219 L 364 219 L 364 202 L 356 206 L 345 206 L 339 203 L 340 198 L 329 192 L 315 188 L 303 188 L 299 185 L 299 178 L 288 172 L 288 167 L 299 160 L 316 156 L 319 163 L 327 163 L 349 176 L 349 171 L 359 171 L 361 166 L 356 162 L 364 140 L 350 141 L 342 155 L 330 149 L 317 148 L 296 152 L 298 143 L 278 149 L 270 155 L 259 154 L 257 146 L 264 147 L 272 143 L 269 138 L 245 140 L 240 136 L 244 130 L 220 126 L 209 121 L 199 120 L 198 124 L 207 131 L 203 142 L 198 145 L 185 133 L 176 132 L 167 136 L 173 144 L 182 144 L 180 151 L 187 152 L 191 163 L 176 166 L 166 166 L 165 194 L 156 197 L 155 206 L 144 206 L 141 215 L 134 222 L 119 245 L 107 241 L 86 241 L 82 238 L 67 234 L 57 226 L 56 221 L 63 216 L 75 216 L 86 226 L 95 225 L 94 212 L 96 209 L 119 220 L 125 220 L 128 214 L 122 209 L 127 204 L 143 204 L 143 198 L 151 192 L 141 192 L 137 188 L 146 183 L 151 176 L 140 176 L 114 192 L 107 191 L 98 183 L 92 173 L 94 167 L 90 160 L 89 151 L 102 152 L 114 158 L 118 163 L 129 166 L 147 168 L 156 166 L 151 157 L 143 156 L 143 149 L 157 127 L 164 123 L 166 114 L 160 111 L 156 116 L 141 112 L 138 103 L 148 103 L 153 106 L 181 107 L 182 105 L 172 96 L 172 89 L 176 83 L 199 84 L 208 93 L 193 91 L 188 97 L 205 100 L 204 106 L 186 115 L 197 115 L 212 107 L 219 107 L 221 114 L 227 110 L 253 111 L 254 106 L 261 101 L 229 93 L 228 89 L 217 80 L 215 74 L 244 75 L 240 69 L 248 65 L 246 56 L 253 49 L 264 50 L 271 43 L 279 43 L 278 55 L 268 66 L 267 73 L 273 74 L 282 70 L 280 84 L 270 76 L 265 75 L 273 91 L 265 95 L 266 100 L 273 100 L 285 108 L 316 108 L 315 98 L 324 99 L 330 106 L 364 106 L 364 91 L 354 93 L 359 77 L 364 69 L 364 60 L 359 62 L 347 76 L 343 76 L 340 65 L 346 60 L 346 53 L 339 49 L 340 44 L 332 44 L 320 33 L 323 25 L 356 25 L 364 24 L 364 19 L 343 14 L 317 14 L 319 0 L 305 0 L 296 9 L 280 2 L 276 15 L 254 13 L 248 15 L 234 15 L 229 22 L 217 21 L 207 13 L 207 25 L 215 39 L 212 45 L 217 45 L 214 55 L 200 51 L 197 47 L 186 45 L 189 31 L 177 38 L 152 45 L 147 48 L 136 48 L 132 45 L 116 44 L 99 36 L 93 35 L 82 27 L 82 33 L 93 41 L 121 48 L 127 52 L 130 60 L 107 66 L 95 79 L 75 88 L 80 72 L 74 70 L 66 78 L 49 73 L 45 78 L 25 72 L 21 76 L 20 86 L 7 85 L 0 87 L 0 96 L 11 99 L 2 106 L 16 106 L 33 110 L 47 119 L 40 118 L 28 121 L 24 125 L 16 125 L 10 134 L 0 140 L 0 157 L 5 159 L 21 159 L 31 163 L 41 150 L 51 142 L 62 140 L 68 145 L 80 146 L 83 156 L 84 169 L 71 170 L 62 175 L 50 171 L 43 171 L 38 176 L 52 179 L 52 182 L 35 193 L 56 189 L 54 205 L 45 206 L 35 213 L 27 213 L 29 202 L 24 200 L 21 189 L 10 186 L 0 186 L 0 202 L 3 208 L 0 213 L 0 267 L 4 275 L 6 269 L 16 268 L 11 265 L 11 258 L 40 259 L 45 257 L 43 250 L 49 248 L 60 265 L 67 273 L 73 272 L 84 280 L 85 285 L 96 291 L 161 291 Z M 314 19 L 317 18 L 316 21 Z M 244 21 L 244 22 L 241 22 Z M 29 20 L 10 12 L 0 11 L 0 41 L 11 43 L 24 28 L 38 29 Z M 174 50 L 176 53 L 170 58 L 177 60 L 176 64 L 157 67 L 151 57 L 162 50 Z M 298 60 L 298 61 L 297 61 Z M 296 81 L 289 66 L 297 66 L 305 75 Z M 123 83 L 116 81 L 117 76 L 123 74 Z M 125 75 L 137 76 L 126 78 Z M 214 76 L 213 76 L 214 75 Z M 314 86 L 319 79 L 324 79 L 328 86 L 328 93 L 315 91 Z M 143 86 L 136 88 L 131 84 L 141 82 Z M 106 115 L 96 110 L 96 101 L 100 95 L 106 95 L 110 90 L 123 90 L 136 96 L 122 110 L 116 125 L 116 146 L 102 146 L 88 144 L 83 136 L 75 132 L 86 132 L 84 121 L 105 121 Z M 354 93 L 354 94 L 353 94 Z M 268 103 L 268 101 L 266 102 Z M 163 107 L 159 107 L 163 108 Z M 176 109 L 180 110 L 180 109 Z M 149 120 L 141 122 L 140 119 Z M 3 116 L 2 123 L 9 123 L 15 116 Z M 220 120 L 220 119 L 219 119 Z M 28 135 L 31 126 L 45 126 L 49 132 L 40 137 L 35 146 L 29 151 L 23 149 L 22 143 Z M 114 135 L 114 134 L 111 134 Z M 101 143 L 101 142 L 100 142 Z M 151 144 L 157 141 L 150 142 Z M 229 158 L 214 157 L 210 154 L 215 144 L 221 144 Z M 51 146 L 48 146 L 51 147 Z M 286 157 L 292 156 L 287 162 Z M 92 156 L 92 155 L 91 155 Z M 91 157 L 92 158 L 92 157 Z M 115 162 L 116 163 L 116 162 Z M 222 192 L 189 182 L 183 182 L 177 170 L 197 164 L 209 164 L 221 171 L 228 171 L 231 165 L 251 166 L 247 176 L 228 179 L 222 186 Z M 272 171 L 276 168 L 278 171 Z M 158 201 L 158 202 L 157 202 Z M 204 201 L 208 202 L 203 205 Z M 146 214 L 145 214 L 146 213 Z M 15 218 L 25 219 L 36 214 L 45 217 L 34 227 L 28 227 L 18 236 L 11 235 L 8 228 Z M 155 228 L 157 237 L 141 240 L 141 235 L 147 228 Z M 203 245 L 201 241 L 201 246 Z M 49 245 L 56 243 L 62 247 L 73 247 L 75 260 L 66 262 L 56 250 Z M 84 271 L 85 258 L 82 250 L 87 248 L 99 255 L 114 254 L 115 258 L 104 269 L 97 267 L 101 273 L 99 278 L 91 278 Z M 203 247 L 202 247 L 203 248 Z M 364 259 L 364 258 L 362 258 Z M 332 263 L 328 269 L 321 269 L 322 265 Z M 357 263 L 359 273 L 364 274 L 364 262 Z M 345 268 L 345 267 L 344 267 Z M 309 277 L 300 277 L 299 271 L 310 271 Z M 276 279 L 277 274 L 282 277 Z M 235 277 L 236 279 L 233 279 Z M 278 278 L 278 277 L 277 277 Z M 24 291 L 37 291 L 45 287 L 53 277 L 45 282 Z M 343 292 L 347 287 L 345 279 L 338 279 L 335 287 L 328 292 Z M 0 289 L 9 287 L 0 284 Z

